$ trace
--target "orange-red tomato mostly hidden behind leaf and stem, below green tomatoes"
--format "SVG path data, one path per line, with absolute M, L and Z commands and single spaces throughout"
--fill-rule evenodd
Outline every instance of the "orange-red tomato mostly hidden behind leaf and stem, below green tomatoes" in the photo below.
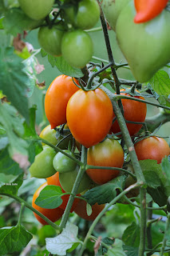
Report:
M 59 181 L 59 173 L 57 172 L 56 174 L 53 174 L 53 176 L 49 177 L 46 179 L 48 185 L 55 185 L 55 186 L 60 186 L 61 187 L 61 183 Z M 62 193 L 65 193 L 65 190 L 63 190 L 63 188 L 61 187 Z M 81 196 L 81 194 L 77 194 L 77 196 Z M 67 206 L 67 202 L 69 201 L 69 194 L 65 194 L 61 197 L 62 199 L 62 203 L 60 208 L 62 210 L 65 210 L 65 207 Z M 73 210 L 75 209 L 75 207 L 77 206 L 77 203 L 79 202 L 79 198 L 74 198 L 73 201 L 73 206 L 71 208 L 71 213 L 73 212 Z

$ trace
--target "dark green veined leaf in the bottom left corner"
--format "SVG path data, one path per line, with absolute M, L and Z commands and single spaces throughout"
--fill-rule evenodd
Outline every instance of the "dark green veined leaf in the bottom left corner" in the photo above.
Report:
M 0 255 L 21 251 L 32 239 L 24 226 L 5 227 L 0 229 Z

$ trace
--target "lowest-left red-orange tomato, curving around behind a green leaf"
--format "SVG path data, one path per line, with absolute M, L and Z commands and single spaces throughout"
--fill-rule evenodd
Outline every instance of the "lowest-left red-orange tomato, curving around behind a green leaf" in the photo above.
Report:
M 46 218 L 49 218 L 51 222 L 57 222 L 58 219 L 61 218 L 62 214 L 64 214 L 64 210 L 60 207 L 55 209 L 45 209 L 35 204 L 35 200 L 38 198 L 40 192 L 47 186 L 47 182 L 43 183 L 41 186 L 38 187 L 38 190 L 35 191 L 32 201 L 32 206 L 34 209 L 38 210 L 40 213 L 44 214 Z M 38 214 L 34 213 L 35 218 L 38 219 L 38 222 L 42 223 L 42 225 L 49 225 L 43 218 L 38 216 Z

